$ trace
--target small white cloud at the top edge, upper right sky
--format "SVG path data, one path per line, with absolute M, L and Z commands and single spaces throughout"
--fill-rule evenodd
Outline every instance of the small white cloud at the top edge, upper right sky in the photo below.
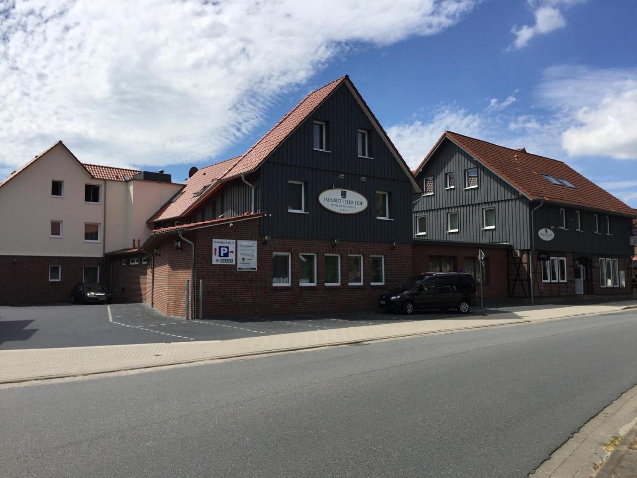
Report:
M 527 0 L 527 4 L 533 10 L 535 24 L 513 25 L 511 33 L 515 35 L 512 48 L 524 48 L 534 36 L 545 35 L 566 26 L 566 20 L 562 10 L 586 0 Z

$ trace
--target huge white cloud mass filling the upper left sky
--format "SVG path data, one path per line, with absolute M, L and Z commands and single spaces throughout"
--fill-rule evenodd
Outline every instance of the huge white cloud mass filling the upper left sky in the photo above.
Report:
M 349 45 L 435 34 L 475 3 L 0 0 L 0 167 L 59 139 L 96 163 L 215 156 Z

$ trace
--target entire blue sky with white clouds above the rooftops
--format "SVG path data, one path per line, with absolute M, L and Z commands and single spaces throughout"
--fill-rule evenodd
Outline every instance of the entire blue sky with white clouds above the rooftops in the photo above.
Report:
M 175 180 L 348 73 L 410 166 L 445 129 L 637 207 L 637 2 L 0 0 L 0 177 L 57 140 Z

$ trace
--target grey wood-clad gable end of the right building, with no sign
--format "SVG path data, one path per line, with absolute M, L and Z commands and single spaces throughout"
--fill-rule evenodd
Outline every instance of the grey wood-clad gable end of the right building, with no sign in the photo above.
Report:
M 464 189 L 465 171 L 478 168 L 478 187 Z M 446 189 L 447 173 L 455 173 L 455 187 Z M 431 240 L 508 243 L 513 249 L 530 249 L 529 201 L 470 154 L 445 140 L 423 171 L 419 184 L 433 177 L 434 194 L 414 196 L 413 236 Z M 496 228 L 483 230 L 482 210 L 495 208 Z M 459 213 L 459 231 L 447 233 L 447 214 Z M 427 235 L 416 235 L 416 218 L 427 217 Z

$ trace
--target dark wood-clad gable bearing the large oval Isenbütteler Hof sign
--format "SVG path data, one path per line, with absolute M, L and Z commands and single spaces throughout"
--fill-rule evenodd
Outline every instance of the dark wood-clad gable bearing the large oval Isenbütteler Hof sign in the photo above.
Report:
M 328 124 L 329 152 L 313 149 L 313 121 Z M 357 129 L 368 130 L 369 156 L 357 155 Z M 332 239 L 408 243 L 412 239 L 412 185 L 396 158 L 376 133 L 346 85 L 341 85 L 317 111 L 273 152 L 261 168 L 263 235 L 286 238 Z M 339 175 L 344 175 L 340 178 Z M 365 180 L 361 180 L 365 178 Z M 287 212 L 287 182 L 306 183 L 308 214 Z M 368 208 L 341 215 L 319 205 L 325 189 L 360 192 Z M 376 219 L 375 193 L 390 193 L 390 218 Z

